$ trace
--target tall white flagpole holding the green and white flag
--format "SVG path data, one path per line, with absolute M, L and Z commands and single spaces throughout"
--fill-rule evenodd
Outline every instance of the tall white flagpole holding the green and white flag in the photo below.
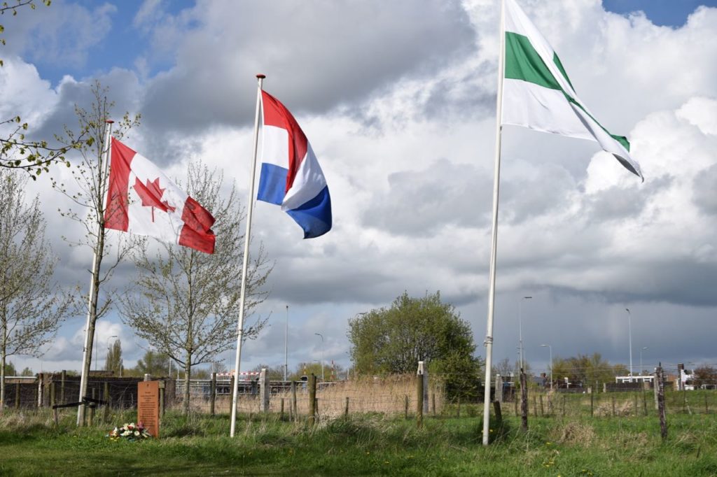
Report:
M 493 365 L 493 312 L 495 309 L 495 261 L 498 256 L 498 196 L 500 189 L 500 121 L 503 118 L 503 62 L 505 59 L 505 4 L 500 0 L 500 54 L 498 56 L 498 97 L 495 101 L 495 169 L 493 171 L 493 233 L 490 246 L 488 285 L 488 326 L 485 332 L 485 397 L 483 399 L 483 445 L 490 433 L 490 367 Z

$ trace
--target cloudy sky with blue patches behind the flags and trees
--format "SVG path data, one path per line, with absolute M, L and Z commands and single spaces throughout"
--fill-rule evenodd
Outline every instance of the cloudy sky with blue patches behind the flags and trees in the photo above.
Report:
M 627 135 L 645 183 L 595 143 L 503 130 L 494 360 L 516 359 L 522 318 L 533 369 L 554 356 L 717 363 L 717 1 L 519 0 L 560 55 L 581 99 Z M 54 0 L 2 17 L 0 117 L 51 137 L 73 105 L 110 87 L 115 113 L 141 113 L 127 142 L 181 178 L 203 160 L 247 198 L 255 74 L 302 125 L 333 200 L 333 230 L 302 240 L 257 203 L 255 249 L 275 261 L 270 327 L 242 369 L 348 365 L 347 320 L 404 290 L 440 290 L 485 356 L 493 188 L 498 0 Z M 59 238 L 72 225 L 47 180 L 58 279 L 87 290 L 90 251 Z M 246 199 L 244 199 L 246 200 Z M 80 233 L 78 230 L 77 233 Z M 115 233 L 115 232 L 110 232 Z M 128 283 L 130 265 L 115 275 Z M 532 299 L 523 299 L 530 296 Z M 79 369 L 85 319 L 68 321 L 34 371 Z M 315 333 L 323 335 L 325 342 Z M 118 315 L 125 365 L 147 344 Z M 233 352 L 219 357 L 234 361 Z M 690 367 L 690 365 L 688 365 Z

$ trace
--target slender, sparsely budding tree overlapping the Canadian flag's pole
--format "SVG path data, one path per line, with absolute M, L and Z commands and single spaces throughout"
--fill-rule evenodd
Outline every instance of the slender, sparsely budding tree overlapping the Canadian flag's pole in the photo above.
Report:
M 75 105 L 75 115 L 79 122 L 79 130 L 75 132 L 65 127 L 65 137 L 61 138 L 67 145 L 78 144 L 75 150 L 79 153 L 79 162 L 72 168 L 72 176 L 75 178 L 75 185 L 79 190 L 68 191 L 64 183 L 52 181 L 52 186 L 70 198 L 80 211 L 70 208 L 67 211 L 60 211 L 62 216 L 71 218 L 81 223 L 85 228 L 85 234 L 79 240 L 66 240 L 71 246 L 87 246 L 92 250 L 92 269 L 90 270 L 90 292 L 87 298 L 87 327 L 85 329 L 85 346 L 83 350 L 82 380 L 80 380 L 80 392 L 86 387 L 86 377 L 90 372 L 92 364 L 92 345 L 95 337 L 95 323 L 100 317 L 108 312 L 113 300 L 113 290 L 103 289 L 108 279 L 113 274 L 115 267 L 120 264 L 123 257 L 130 251 L 135 240 L 128 234 L 120 234 L 117 241 L 110 244 L 107 240 L 105 229 L 105 195 L 108 184 L 108 150 L 110 138 L 106 132 L 110 112 L 114 102 L 108 100 L 108 88 L 102 87 L 95 82 L 91 89 L 94 99 L 90 110 L 85 110 Z M 128 113 L 121 120 L 114 123 L 113 137 L 122 138 L 127 131 L 139 124 L 139 115 L 130 117 Z M 89 138 L 85 143 L 78 143 L 77 138 L 85 136 Z M 113 256 L 110 258 L 110 254 Z M 105 269 L 102 269 L 103 261 L 108 260 Z M 100 293 L 101 291 L 101 293 Z M 102 302 L 100 303 L 100 299 Z M 80 400 L 82 400 L 80 395 Z M 80 405 L 77 412 L 77 425 L 84 425 L 85 406 Z

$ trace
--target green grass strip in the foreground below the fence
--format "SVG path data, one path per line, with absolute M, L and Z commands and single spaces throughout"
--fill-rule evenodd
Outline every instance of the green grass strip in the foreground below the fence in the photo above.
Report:
M 309 428 L 276 416 L 240 416 L 229 438 L 229 416 L 168 413 L 162 438 L 113 442 L 113 425 L 75 428 L 49 413 L 0 418 L 0 475 L 62 476 L 711 476 L 717 475 L 717 419 L 669 415 L 660 439 L 655 413 L 623 418 L 534 418 L 530 430 L 505 418 L 494 442 L 481 445 L 480 414 L 414 420 L 360 415 Z

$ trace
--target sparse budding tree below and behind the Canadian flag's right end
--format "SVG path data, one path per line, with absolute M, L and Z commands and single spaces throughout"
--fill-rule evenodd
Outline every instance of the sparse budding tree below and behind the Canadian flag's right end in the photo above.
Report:
M 191 367 L 211 362 L 237 338 L 245 219 L 233 186 L 222 197 L 222 174 L 190 165 L 187 177 L 189 195 L 217 219 L 214 254 L 144 239 L 132 254 L 138 293 L 125 297 L 121 307 L 124 322 L 139 337 L 184 367 L 184 413 Z M 260 247 L 247 272 L 247 312 L 265 299 L 261 287 L 271 269 Z M 256 337 L 265 322 L 257 319 L 243 336 Z

